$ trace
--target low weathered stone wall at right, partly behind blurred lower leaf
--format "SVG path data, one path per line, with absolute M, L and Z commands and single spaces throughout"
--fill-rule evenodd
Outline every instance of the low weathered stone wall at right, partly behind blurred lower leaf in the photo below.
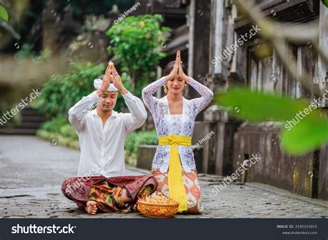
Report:
M 282 151 L 277 122 L 244 122 L 235 133 L 233 169 L 258 154 L 260 160 L 248 168 L 245 181 L 259 182 L 311 198 L 327 198 L 328 147 L 302 156 Z

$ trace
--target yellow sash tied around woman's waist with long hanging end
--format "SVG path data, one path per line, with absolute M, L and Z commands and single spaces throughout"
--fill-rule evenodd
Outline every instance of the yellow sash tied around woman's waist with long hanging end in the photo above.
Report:
M 191 146 L 191 138 L 181 135 L 167 135 L 158 138 L 158 145 L 170 145 L 170 165 L 168 174 L 170 198 L 179 201 L 178 212 L 188 210 L 187 196 L 185 196 L 185 185 L 182 178 L 182 167 L 180 163 L 178 145 Z

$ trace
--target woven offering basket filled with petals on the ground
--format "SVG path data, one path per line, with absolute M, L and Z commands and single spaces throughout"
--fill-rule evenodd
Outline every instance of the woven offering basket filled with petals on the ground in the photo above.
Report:
M 144 216 L 166 219 L 174 216 L 178 211 L 179 202 L 168 199 L 161 192 L 156 196 L 138 200 L 138 210 Z

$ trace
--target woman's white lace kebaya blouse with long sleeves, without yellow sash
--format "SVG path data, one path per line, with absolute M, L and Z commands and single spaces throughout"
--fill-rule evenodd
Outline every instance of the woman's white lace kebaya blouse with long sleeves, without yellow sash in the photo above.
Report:
M 194 120 L 197 114 L 205 109 L 213 98 L 213 92 L 208 87 L 195 81 L 190 77 L 187 82 L 200 95 L 201 98 L 188 100 L 183 98 L 183 112 L 181 115 L 171 115 L 167 97 L 161 99 L 155 98 L 154 93 L 166 83 L 165 77 L 149 84 L 143 89 L 143 102 L 148 107 L 154 118 L 157 137 L 167 135 L 183 135 L 192 137 L 194 130 Z M 185 172 L 191 172 L 196 169 L 194 163 L 194 153 L 192 147 L 178 146 L 181 165 Z M 170 160 L 170 146 L 158 145 L 156 154 L 152 163 L 152 169 L 159 169 L 161 172 L 167 172 Z

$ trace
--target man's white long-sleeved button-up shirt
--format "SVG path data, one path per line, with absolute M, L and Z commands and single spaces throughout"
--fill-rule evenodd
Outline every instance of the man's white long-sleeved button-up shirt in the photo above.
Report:
M 143 102 L 131 93 L 122 96 L 130 113 L 112 111 L 104 127 L 96 109 L 86 111 L 99 101 L 96 91 L 83 97 L 69 109 L 69 122 L 75 127 L 80 140 L 78 176 L 125 175 L 125 138 L 143 125 L 147 111 Z

